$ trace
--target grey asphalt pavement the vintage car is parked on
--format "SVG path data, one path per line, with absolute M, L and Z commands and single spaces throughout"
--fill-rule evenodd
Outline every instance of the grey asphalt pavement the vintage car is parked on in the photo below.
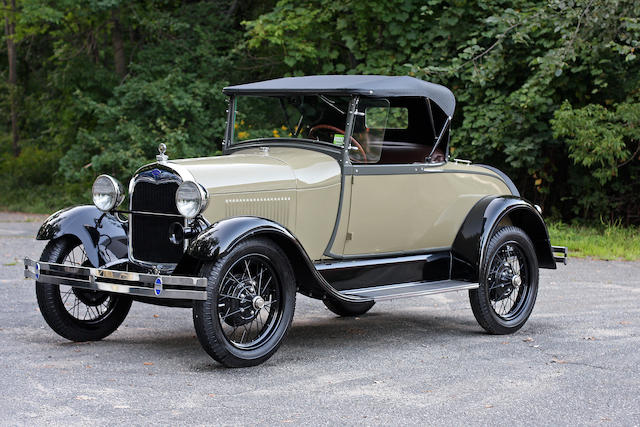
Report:
M 101 342 L 42 319 L 24 256 L 43 217 L 0 214 L 2 425 L 639 425 L 640 263 L 541 270 L 524 328 L 491 336 L 466 292 L 381 302 L 355 319 L 298 297 L 265 364 L 227 369 L 191 311 L 134 303 Z

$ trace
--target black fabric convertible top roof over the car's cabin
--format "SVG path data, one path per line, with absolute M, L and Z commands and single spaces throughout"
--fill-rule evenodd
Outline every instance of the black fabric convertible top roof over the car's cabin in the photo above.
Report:
M 244 85 L 228 86 L 225 95 L 326 95 L 423 96 L 453 116 L 456 99 L 444 86 L 409 76 L 328 75 L 284 77 Z

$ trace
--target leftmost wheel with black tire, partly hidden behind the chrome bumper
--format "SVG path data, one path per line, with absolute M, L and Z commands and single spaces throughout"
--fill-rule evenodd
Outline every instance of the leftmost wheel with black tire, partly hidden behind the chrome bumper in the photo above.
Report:
M 59 264 L 89 265 L 86 257 L 78 259 L 77 262 L 70 262 L 71 255 L 74 255 L 76 261 L 77 251 L 84 253 L 80 241 L 72 237 L 61 237 L 49 241 L 42 251 L 40 260 Z M 47 324 L 58 335 L 71 341 L 99 341 L 109 336 L 127 317 L 132 302 L 131 297 L 126 295 L 42 282 L 36 282 L 36 297 L 40 313 Z M 85 307 L 86 311 L 81 318 L 82 307 Z

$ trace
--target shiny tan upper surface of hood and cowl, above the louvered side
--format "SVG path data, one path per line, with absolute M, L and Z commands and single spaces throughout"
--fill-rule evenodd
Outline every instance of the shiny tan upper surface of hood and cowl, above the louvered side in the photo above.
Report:
M 210 195 L 256 191 L 298 190 L 340 182 L 338 162 L 323 153 L 301 148 L 247 148 L 217 157 L 174 160 Z

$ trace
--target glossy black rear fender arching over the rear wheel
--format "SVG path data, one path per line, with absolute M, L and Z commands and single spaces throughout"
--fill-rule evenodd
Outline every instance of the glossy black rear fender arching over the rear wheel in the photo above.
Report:
M 533 242 L 541 268 L 556 268 L 547 226 L 536 208 L 516 196 L 487 196 L 471 208 L 451 248 L 452 278 L 478 281 L 489 239 L 501 221 L 524 230 Z

